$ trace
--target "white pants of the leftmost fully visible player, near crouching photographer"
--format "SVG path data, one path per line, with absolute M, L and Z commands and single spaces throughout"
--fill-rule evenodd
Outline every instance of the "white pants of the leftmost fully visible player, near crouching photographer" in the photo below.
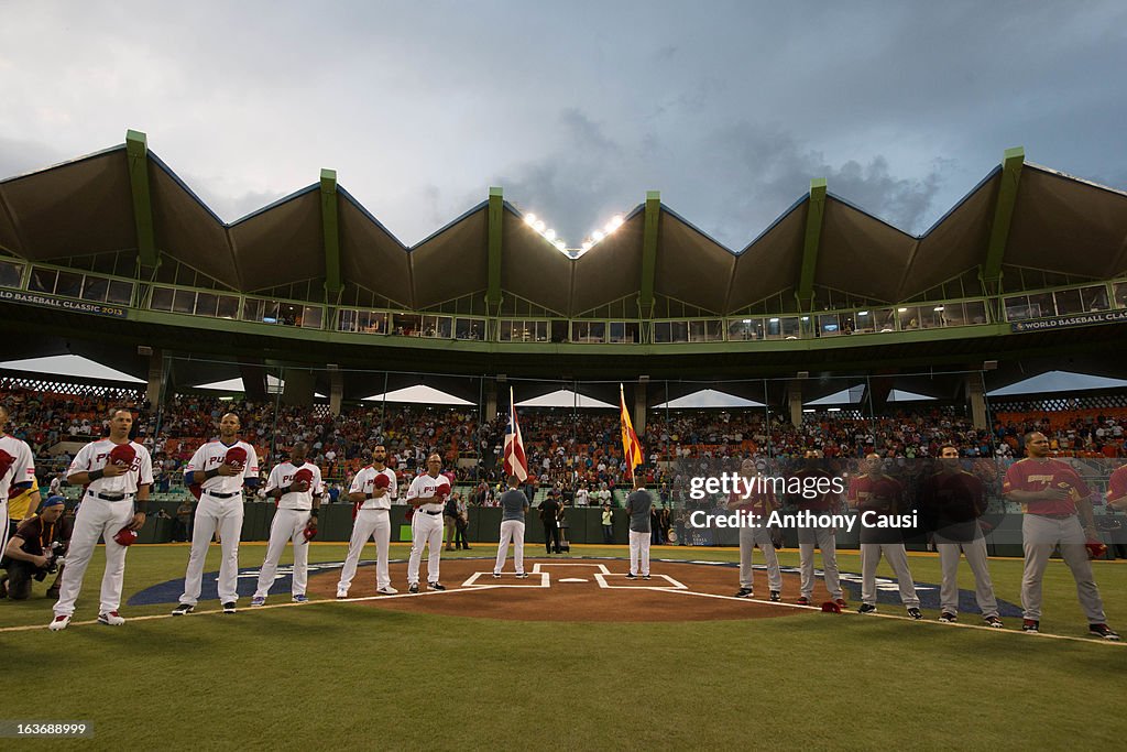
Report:
M 106 542 L 106 572 L 101 576 L 101 603 L 98 613 L 116 611 L 122 602 L 122 582 L 125 578 L 125 554 L 128 548 L 114 540 L 122 528 L 133 519 L 133 499 L 107 502 L 87 494 L 74 516 L 74 531 L 66 550 L 66 569 L 59 587 L 55 616 L 74 613 L 74 601 L 82 590 L 82 577 L 90 565 L 98 538 Z

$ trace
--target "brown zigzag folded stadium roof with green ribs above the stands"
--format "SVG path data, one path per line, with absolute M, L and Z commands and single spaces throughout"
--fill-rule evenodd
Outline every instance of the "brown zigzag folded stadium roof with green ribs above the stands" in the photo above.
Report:
M 412 310 L 487 290 L 489 201 L 408 248 L 331 174 L 228 224 L 136 143 L 0 182 L 0 251 L 60 264 L 114 253 L 131 269 L 159 253 L 246 293 L 299 283 L 322 291 L 339 274 L 345 289 Z M 811 188 L 736 253 L 654 202 L 653 292 L 702 315 L 736 315 L 775 295 L 793 299 L 804 271 L 816 289 L 875 302 L 911 300 L 990 263 L 1080 280 L 1127 272 L 1127 194 L 1024 163 L 1023 153 L 1014 171 L 1011 157 L 919 237 Z M 647 204 L 571 258 L 502 202 L 505 297 L 564 317 L 629 307 L 644 275 Z

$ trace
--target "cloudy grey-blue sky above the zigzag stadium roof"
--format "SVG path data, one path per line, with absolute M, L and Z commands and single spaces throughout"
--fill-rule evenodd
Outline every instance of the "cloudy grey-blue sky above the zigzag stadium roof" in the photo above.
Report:
M 488 187 L 742 249 L 826 177 L 920 233 L 1014 145 L 1127 188 L 1127 3 L 0 0 L 0 177 L 149 145 L 224 220 L 334 168 L 405 244 Z

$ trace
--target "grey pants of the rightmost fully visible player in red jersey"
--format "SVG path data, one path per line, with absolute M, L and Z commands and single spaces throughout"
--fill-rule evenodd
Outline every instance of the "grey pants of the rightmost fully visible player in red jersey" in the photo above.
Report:
M 1041 618 L 1041 578 L 1048 566 L 1053 548 L 1059 543 L 1061 558 L 1072 569 L 1076 581 L 1076 595 L 1089 623 L 1103 623 L 1103 601 L 1092 577 L 1092 563 L 1088 559 L 1084 529 L 1076 515 L 1054 520 L 1039 514 L 1026 514 L 1021 521 L 1021 536 L 1026 550 L 1026 569 L 1021 576 L 1021 608 L 1026 619 Z M 68 559 L 69 561 L 69 559 Z

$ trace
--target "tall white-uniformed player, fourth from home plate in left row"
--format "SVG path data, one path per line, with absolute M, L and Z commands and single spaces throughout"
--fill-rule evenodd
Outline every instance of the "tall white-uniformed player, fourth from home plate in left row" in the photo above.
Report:
M 204 559 L 212 536 L 219 530 L 222 559 L 219 565 L 219 602 L 223 613 L 234 613 L 239 600 L 239 538 L 242 534 L 242 488 L 258 486 L 258 454 L 239 441 L 241 423 L 234 413 L 219 422 L 219 440 L 196 450 L 184 468 L 184 485 L 198 494 L 192 525 L 192 554 L 184 574 L 184 594 L 174 617 L 192 613 L 199 601 Z

